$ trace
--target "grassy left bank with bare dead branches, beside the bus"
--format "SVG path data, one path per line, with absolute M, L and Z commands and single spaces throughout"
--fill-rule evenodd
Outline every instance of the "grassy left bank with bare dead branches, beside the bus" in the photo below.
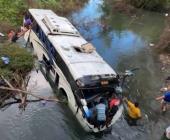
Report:
M 0 108 L 13 102 L 25 104 L 26 95 L 2 88 L 26 90 L 33 67 L 33 56 L 25 48 L 9 42 L 0 44 Z

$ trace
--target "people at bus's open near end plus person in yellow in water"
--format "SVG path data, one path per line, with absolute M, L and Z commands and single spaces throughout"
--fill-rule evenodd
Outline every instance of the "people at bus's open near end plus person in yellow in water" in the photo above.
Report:
M 98 102 L 84 104 L 84 117 L 99 130 L 104 126 L 108 127 L 113 116 L 118 111 L 121 100 L 117 97 L 110 99 L 100 98 Z M 123 102 L 127 105 L 127 121 L 130 125 L 137 125 L 137 120 L 141 118 L 141 111 L 137 102 L 132 103 L 126 98 Z

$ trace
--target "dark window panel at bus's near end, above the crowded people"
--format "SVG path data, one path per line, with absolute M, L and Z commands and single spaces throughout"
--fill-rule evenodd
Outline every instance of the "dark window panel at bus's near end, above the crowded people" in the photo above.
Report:
M 119 80 L 113 75 L 86 76 L 77 80 L 84 98 L 87 101 L 115 92 Z

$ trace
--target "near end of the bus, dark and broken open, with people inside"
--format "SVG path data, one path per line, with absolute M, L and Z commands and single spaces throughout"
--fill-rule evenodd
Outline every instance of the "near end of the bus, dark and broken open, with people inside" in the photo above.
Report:
M 79 109 L 87 125 L 95 132 L 104 130 L 112 125 L 122 114 L 122 103 L 116 87 L 119 80 L 115 75 L 86 76 L 77 80 L 79 90 L 76 94 Z M 103 125 L 98 124 L 97 106 L 105 105 L 106 119 Z M 116 116 L 117 115 L 117 116 Z

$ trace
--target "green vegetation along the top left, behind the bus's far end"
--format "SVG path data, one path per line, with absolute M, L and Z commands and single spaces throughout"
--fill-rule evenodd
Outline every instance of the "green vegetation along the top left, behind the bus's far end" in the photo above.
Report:
M 61 14 L 78 9 L 87 0 L 0 0 L 0 24 L 22 25 L 28 8 L 46 8 Z

